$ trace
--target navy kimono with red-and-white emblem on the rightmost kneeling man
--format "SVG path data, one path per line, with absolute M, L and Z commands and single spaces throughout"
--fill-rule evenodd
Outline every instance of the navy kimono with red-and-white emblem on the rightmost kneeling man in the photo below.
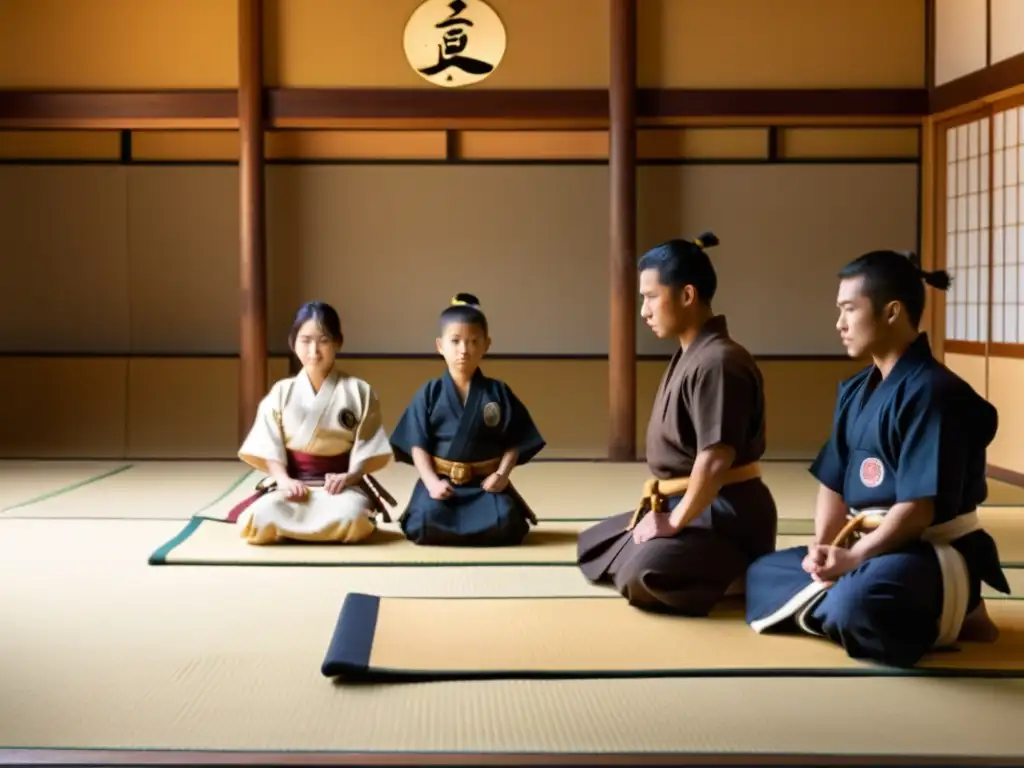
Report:
M 761 557 L 746 573 L 748 623 L 757 632 L 795 624 L 853 658 L 894 667 L 913 667 L 955 641 L 982 582 L 1010 594 L 976 512 L 988 493 L 985 452 L 996 426 L 995 409 L 932 356 L 925 334 L 887 378 L 870 366 L 844 382 L 811 474 L 851 514 L 931 499 L 932 526 L 827 589 L 802 567 L 807 547 Z

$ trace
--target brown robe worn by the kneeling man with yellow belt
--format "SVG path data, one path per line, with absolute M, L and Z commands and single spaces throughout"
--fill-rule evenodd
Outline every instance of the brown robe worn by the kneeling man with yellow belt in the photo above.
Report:
M 672 356 L 647 425 L 647 466 L 659 479 L 687 477 L 697 454 L 716 443 L 735 450 L 735 467 L 760 460 L 765 450 L 761 371 L 729 338 L 723 315 Z M 666 511 L 681 498 L 669 499 Z M 725 485 L 671 538 L 634 543 L 626 529 L 632 517 L 626 512 L 583 531 L 577 562 L 589 581 L 610 583 L 648 610 L 707 615 L 751 562 L 775 549 L 775 502 L 760 478 Z

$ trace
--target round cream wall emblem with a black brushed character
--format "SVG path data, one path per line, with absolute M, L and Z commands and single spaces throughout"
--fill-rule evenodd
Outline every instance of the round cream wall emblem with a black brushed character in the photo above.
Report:
M 505 55 L 505 26 L 483 0 L 425 0 L 406 24 L 406 60 L 442 88 L 478 83 Z

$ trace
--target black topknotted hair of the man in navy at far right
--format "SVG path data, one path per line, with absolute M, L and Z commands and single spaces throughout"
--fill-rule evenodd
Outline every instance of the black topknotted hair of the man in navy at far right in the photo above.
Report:
M 870 251 L 840 269 L 839 278 L 863 278 L 861 292 L 870 300 L 876 314 L 891 301 L 903 304 L 914 329 L 925 313 L 925 284 L 945 291 L 951 283 L 943 269 L 922 269 L 921 258 L 912 251 Z

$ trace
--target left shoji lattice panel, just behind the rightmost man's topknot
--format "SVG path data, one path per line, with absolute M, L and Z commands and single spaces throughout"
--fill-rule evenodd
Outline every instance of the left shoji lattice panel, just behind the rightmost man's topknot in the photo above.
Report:
M 988 340 L 988 118 L 946 131 L 946 338 Z

